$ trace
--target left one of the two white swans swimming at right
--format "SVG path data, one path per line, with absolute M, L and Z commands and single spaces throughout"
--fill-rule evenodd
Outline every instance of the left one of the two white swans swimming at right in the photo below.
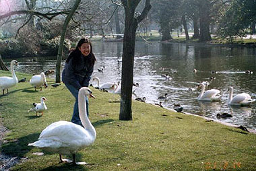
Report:
M 197 97 L 197 100 L 202 100 L 202 101 L 220 101 L 221 96 L 217 96 L 220 94 L 220 90 L 216 89 L 211 89 L 205 91 L 205 85 L 203 83 L 200 83 L 201 86 L 201 92 L 199 96 Z

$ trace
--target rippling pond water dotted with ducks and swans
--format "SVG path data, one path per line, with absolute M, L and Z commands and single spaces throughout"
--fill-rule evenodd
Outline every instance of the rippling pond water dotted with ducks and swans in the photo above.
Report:
M 93 50 L 97 59 L 93 76 L 99 77 L 102 83 L 121 81 L 123 43 L 93 42 Z M 55 57 L 17 60 L 20 65 L 15 68 L 16 71 L 40 73 L 55 69 Z M 11 59 L 4 61 L 9 66 Z M 105 68 L 101 73 L 97 69 L 103 66 Z M 247 70 L 254 73 L 247 74 Z M 256 129 L 256 102 L 247 107 L 228 105 L 229 86 L 234 88 L 234 95 L 246 92 L 256 98 L 255 72 L 256 48 L 136 42 L 134 82 L 139 83 L 139 88 L 133 98 L 146 97 L 146 102 L 155 104 L 160 102 L 158 96 L 167 93 L 168 99 L 162 101 L 164 108 L 181 104 L 184 112 L 215 119 L 216 114 L 227 112 L 233 117 L 222 121 Z M 162 77 L 163 74 L 170 75 L 172 79 Z M 196 99 L 200 92 L 196 88 L 201 81 L 210 83 L 207 89 L 220 90 L 220 102 L 199 102 Z M 195 91 L 189 88 L 195 88 Z

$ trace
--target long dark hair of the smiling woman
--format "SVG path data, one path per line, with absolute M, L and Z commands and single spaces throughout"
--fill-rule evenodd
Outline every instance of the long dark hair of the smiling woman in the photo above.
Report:
M 96 61 L 96 57 L 94 56 L 94 53 L 92 53 L 92 43 L 90 42 L 90 40 L 88 38 L 81 38 L 79 40 L 79 42 L 77 43 L 77 46 L 75 48 L 75 50 L 73 50 L 70 54 L 69 54 L 69 57 L 67 57 L 67 60 L 66 60 L 66 63 L 69 62 L 70 59 L 74 58 L 74 63 L 79 63 L 81 61 L 79 61 L 77 59 L 77 56 L 80 57 L 82 55 L 81 51 L 79 50 L 79 47 L 82 46 L 82 44 L 84 43 L 88 43 L 90 44 L 90 48 L 91 48 L 91 51 L 90 51 L 90 54 L 88 55 L 88 64 L 90 66 L 93 66 L 95 61 Z

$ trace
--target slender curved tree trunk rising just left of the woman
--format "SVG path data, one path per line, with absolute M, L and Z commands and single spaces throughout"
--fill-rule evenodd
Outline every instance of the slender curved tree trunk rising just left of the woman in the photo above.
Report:
M 63 28 L 61 31 L 61 40 L 59 40 L 59 49 L 58 49 L 58 55 L 57 55 L 57 61 L 56 61 L 56 78 L 55 81 L 56 83 L 61 82 L 61 60 L 62 60 L 62 55 L 63 55 L 63 44 L 65 40 L 65 35 L 67 32 L 67 26 L 69 26 L 69 21 L 71 20 L 73 14 L 75 13 L 75 10 L 79 6 L 79 3 L 81 0 L 76 0 L 69 15 L 67 15 L 67 18 L 65 19 L 65 22 L 63 24 Z

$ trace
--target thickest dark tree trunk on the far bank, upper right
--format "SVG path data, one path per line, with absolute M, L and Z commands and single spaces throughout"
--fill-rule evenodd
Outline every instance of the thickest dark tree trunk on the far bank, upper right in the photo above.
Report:
M 212 40 L 210 35 L 210 2 L 201 0 L 199 3 L 199 42 Z

